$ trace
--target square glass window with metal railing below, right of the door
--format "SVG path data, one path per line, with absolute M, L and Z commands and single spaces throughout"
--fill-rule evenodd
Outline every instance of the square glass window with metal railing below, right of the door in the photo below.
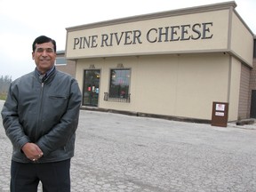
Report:
M 130 69 L 111 69 L 110 70 L 109 98 L 127 99 L 130 87 Z

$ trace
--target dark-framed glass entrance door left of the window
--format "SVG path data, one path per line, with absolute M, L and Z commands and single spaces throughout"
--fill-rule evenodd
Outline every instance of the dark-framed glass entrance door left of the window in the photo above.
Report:
M 100 92 L 100 70 L 84 70 L 84 106 L 98 107 Z

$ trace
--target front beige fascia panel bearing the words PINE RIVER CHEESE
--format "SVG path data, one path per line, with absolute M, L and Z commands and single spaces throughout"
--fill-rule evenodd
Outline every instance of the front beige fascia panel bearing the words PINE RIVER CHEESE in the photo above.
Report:
M 76 31 L 68 31 L 67 34 L 67 58 L 90 58 L 124 55 L 145 55 L 170 52 L 224 52 L 228 51 L 228 12 L 229 10 L 218 10 L 212 12 L 198 12 L 186 15 L 169 16 L 151 20 L 138 20 L 134 22 L 121 23 L 116 25 L 100 26 L 96 28 L 82 28 Z M 186 31 L 182 35 L 182 26 Z M 188 26 L 187 26 L 188 25 Z M 195 26 L 195 31 L 193 26 Z M 172 40 L 172 28 L 175 34 Z M 154 28 L 153 30 L 151 30 Z M 160 42 L 160 29 L 162 35 Z M 167 29 L 166 29 L 167 28 Z M 137 32 L 136 32 L 137 31 Z M 140 31 L 140 43 L 134 36 Z M 127 38 L 125 38 L 125 32 Z M 115 34 L 116 36 L 111 34 Z M 122 35 L 123 33 L 123 35 Z M 200 37 L 197 33 L 200 33 Z M 147 38 L 147 34 L 148 38 Z M 92 43 L 92 36 L 94 42 Z M 108 36 L 108 43 L 112 39 L 111 46 L 106 46 L 102 41 Z M 183 39 L 181 40 L 183 36 Z M 204 37 L 205 38 L 204 38 Z M 120 38 L 120 42 L 116 42 Z M 197 38 L 198 39 L 193 39 Z M 86 38 L 87 43 L 84 43 Z M 155 43 L 149 41 L 156 39 Z M 174 39 L 176 39 L 174 41 Z M 179 40 L 178 40 L 179 39 Z M 129 44 L 125 44 L 127 41 Z M 79 42 L 79 44 L 78 44 Z M 77 43 L 77 45 L 75 45 Z M 130 44 L 131 43 L 131 44 Z M 103 45 L 103 46 L 102 46 Z

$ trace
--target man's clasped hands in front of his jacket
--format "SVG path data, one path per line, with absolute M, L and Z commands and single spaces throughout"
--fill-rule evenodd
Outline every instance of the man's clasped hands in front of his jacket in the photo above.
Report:
M 28 159 L 34 162 L 44 155 L 43 151 L 35 143 L 26 143 L 21 149 Z

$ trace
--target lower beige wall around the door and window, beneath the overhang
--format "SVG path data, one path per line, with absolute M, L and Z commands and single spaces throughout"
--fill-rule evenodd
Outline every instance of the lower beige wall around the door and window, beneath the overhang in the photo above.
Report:
M 130 103 L 103 100 L 104 92 L 108 92 L 110 68 L 116 68 L 118 63 L 132 69 Z M 233 96 L 233 93 L 239 92 L 237 75 L 240 76 L 240 68 L 238 63 L 232 63 L 227 54 L 78 60 L 76 78 L 81 90 L 84 69 L 90 68 L 90 65 L 101 70 L 99 108 L 210 120 L 212 102 L 220 101 L 229 102 L 229 120 L 237 117 L 238 96 Z

